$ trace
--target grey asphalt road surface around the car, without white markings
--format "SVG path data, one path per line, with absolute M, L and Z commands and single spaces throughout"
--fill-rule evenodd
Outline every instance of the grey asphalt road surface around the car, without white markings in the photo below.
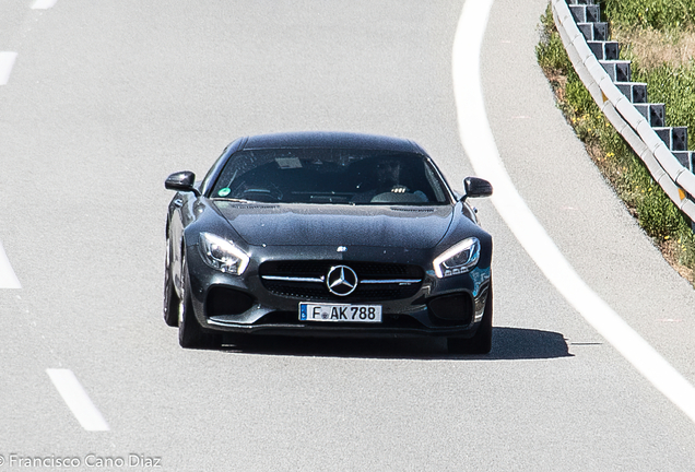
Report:
M 164 324 L 164 178 L 203 174 L 236 137 L 409 137 L 461 187 L 462 4 L 0 2 L 0 51 L 17 52 L 0 86 L 0 241 L 22 284 L 0 290 L 0 471 L 66 457 L 81 470 L 695 469 L 691 420 L 488 201 L 476 206 L 495 236 L 490 356 L 436 341 L 185 351 Z M 585 282 L 695 382 L 695 295 L 555 108 L 533 52 L 545 4 L 493 5 L 482 79 L 500 156 Z M 84 428 L 46 369 L 74 373 L 107 430 Z

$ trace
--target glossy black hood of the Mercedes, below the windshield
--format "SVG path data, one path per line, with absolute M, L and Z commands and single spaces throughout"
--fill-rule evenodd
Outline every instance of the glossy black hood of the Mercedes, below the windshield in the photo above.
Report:
M 441 240 L 453 208 L 214 202 L 254 246 L 385 246 L 428 249 Z

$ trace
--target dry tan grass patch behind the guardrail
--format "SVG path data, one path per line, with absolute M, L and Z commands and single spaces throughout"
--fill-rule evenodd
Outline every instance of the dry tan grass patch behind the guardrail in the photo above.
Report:
M 676 68 L 695 57 L 695 30 L 663 33 L 611 25 L 611 33 L 623 55 L 647 70 L 663 63 Z

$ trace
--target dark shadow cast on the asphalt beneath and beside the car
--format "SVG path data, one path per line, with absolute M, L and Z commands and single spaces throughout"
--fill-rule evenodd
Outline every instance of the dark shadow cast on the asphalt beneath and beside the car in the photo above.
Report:
M 495 327 L 493 349 L 486 355 L 449 354 L 440 339 L 322 339 L 254 337 L 222 345 L 227 353 L 354 358 L 517 361 L 569 357 L 561 333 L 526 328 Z

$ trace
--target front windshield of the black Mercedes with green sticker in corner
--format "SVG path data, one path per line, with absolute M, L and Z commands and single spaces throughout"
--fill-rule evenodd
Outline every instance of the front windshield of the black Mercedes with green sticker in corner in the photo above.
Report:
M 341 149 L 235 153 L 210 197 L 283 203 L 449 203 L 446 185 L 422 155 Z

